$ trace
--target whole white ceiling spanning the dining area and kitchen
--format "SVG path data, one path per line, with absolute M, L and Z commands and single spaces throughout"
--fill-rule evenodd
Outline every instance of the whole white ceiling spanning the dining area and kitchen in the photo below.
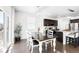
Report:
M 50 17 L 79 15 L 79 6 L 15 6 L 14 8 L 16 11 Z

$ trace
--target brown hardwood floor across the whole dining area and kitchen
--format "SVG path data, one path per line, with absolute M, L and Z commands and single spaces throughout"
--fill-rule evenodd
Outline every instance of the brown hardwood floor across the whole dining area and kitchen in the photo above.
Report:
M 50 44 L 48 44 L 47 50 L 45 50 L 45 45 L 43 44 L 43 53 L 54 53 L 53 48 L 50 47 Z M 30 53 L 26 40 L 21 40 L 14 44 L 14 46 L 11 49 L 11 53 Z M 34 48 L 33 53 L 39 53 L 38 47 Z M 79 47 L 73 47 L 71 45 L 63 46 L 62 43 L 58 42 L 56 43 L 56 52 L 55 53 L 79 53 Z

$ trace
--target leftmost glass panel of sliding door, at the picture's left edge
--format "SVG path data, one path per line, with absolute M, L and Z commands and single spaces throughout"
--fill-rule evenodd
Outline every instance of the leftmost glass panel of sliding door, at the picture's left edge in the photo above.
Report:
M 4 40 L 4 16 L 3 11 L 0 10 L 0 52 L 3 52 Z

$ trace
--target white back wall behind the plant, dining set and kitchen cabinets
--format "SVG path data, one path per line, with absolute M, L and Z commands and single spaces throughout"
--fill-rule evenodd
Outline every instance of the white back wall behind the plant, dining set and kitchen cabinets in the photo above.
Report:
M 65 30 L 69 29 L 69 21 L 71 18 L 78 18 L 78 17 L 58 17 L 53 18 L 48 15 L 44 14 L 30 14 L 30 13 L 24 13 L 20 11 L 16 11 L 15 13 L 15 26 L 16 24 L 22 25 L 22 39 L 26 39 L 26 33 L 27 31 L 37 32 L 38 28 L 43 30 L 43 21 L 45 18 L 52 19 L 52 20 L 58 20 L 58 29 Z

